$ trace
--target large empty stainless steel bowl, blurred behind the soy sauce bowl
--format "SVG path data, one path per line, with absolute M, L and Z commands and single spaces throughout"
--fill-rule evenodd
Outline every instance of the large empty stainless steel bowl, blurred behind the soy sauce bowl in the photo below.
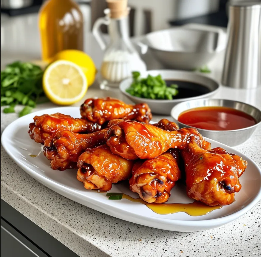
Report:
M 226 48 L 226 33 L 221 29 L 170 28 L 145 35 L 142 43 L 166 68 L 194 70 Z

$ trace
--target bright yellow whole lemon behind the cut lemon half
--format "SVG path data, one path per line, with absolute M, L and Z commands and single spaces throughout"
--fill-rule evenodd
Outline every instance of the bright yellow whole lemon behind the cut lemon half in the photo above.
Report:
M 57 53 L 52 61 L 66 60 L 80 66 L 86 76 L 88 87 L 95 81 L 96 68 L 92 58 L 79 50 L 63 50 Z

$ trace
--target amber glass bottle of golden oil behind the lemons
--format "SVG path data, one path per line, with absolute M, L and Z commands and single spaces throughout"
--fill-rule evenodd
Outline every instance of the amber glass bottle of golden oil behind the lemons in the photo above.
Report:
M 65 49 L 83 50 L 83 16 L 72 0 L 48 0 L 39 12 L 42 59 Z

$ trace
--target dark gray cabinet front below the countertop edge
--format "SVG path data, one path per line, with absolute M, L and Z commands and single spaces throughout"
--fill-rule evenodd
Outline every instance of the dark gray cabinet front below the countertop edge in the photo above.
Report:
M 79 257 L 1 199 L 1 257 Z

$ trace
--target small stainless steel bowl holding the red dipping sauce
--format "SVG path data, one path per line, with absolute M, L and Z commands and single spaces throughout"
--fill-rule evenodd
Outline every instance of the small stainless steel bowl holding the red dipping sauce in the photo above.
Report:
M 171 110 L 171 116 L 174 119 L 174 121 L 180 126 L 180 128 L 190 127 L 186 124 L 179 122 L 178 116 L 180 115 L 180 113 L 186 110 L 204 106 L 230 107 L 251 115 L 257 121 L 257 124 L 251 127 L 246 127 L 237 130 L 205 130 L 196 128 L 202 134 L 202 136 L 214 139 L 220 143 L 229 146 L 235 146 L 244 143 L 248 138 L 250 138 L 257 126 L 261 124 L 261 110 L 257 109 L 256 107 L 250 104 L 225 99 L 198 99 L 186 101 L 174 106 Z

